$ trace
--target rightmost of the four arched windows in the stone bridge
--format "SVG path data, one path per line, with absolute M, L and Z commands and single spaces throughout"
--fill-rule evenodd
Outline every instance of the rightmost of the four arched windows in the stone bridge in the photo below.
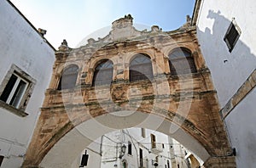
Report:
M 178 48 L 169 55 L 169 66 L 172 76 L 196 72 L 194 58 L 185 48 Z

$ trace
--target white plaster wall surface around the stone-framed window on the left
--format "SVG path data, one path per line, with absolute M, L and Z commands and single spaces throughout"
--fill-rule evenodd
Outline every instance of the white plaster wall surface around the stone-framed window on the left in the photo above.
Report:
M 5 156 L 2 165 L 19 167 L 49 85 L 55 56 L 54 50 L 6 0 L 0 1 L 0 51 L 0 82 L 11 64 L 36 80 L 26 106 L 28 116 L 20 117 L 0 108 L 0 154 Z

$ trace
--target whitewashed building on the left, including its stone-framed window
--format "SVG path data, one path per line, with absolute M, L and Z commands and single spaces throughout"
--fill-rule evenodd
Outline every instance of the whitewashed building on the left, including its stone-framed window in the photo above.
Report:
M 41 34 L 42 33 L 42 34 Z M 32 137 L 55 49 L 8 0 L 0 1 L 0 166 L 20 167 Z

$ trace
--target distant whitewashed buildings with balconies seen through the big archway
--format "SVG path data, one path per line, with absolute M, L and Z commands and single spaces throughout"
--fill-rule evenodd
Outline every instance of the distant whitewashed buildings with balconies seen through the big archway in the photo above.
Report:
M 143 128 L 109 132 L 85 148 L 88 168 L 189 168 L 189 151 L 166 134 Z M 84 154 L 84 152 L 82 153 Z M 81 156 L 82 156 L 81 154 Z M 78 167 L 79 157 L 72 167 Z

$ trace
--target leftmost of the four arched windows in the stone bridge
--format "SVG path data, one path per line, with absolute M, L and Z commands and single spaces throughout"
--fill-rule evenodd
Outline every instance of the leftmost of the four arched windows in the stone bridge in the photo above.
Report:
M 68 66 L 62 72 L 58 90 L 71 89 L 76 86 L 79 74 L 79 67 L 75 64 Z

